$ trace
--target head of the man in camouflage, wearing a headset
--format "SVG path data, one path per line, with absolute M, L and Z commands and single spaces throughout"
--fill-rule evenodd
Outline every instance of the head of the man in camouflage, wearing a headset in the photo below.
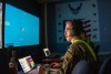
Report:
M 70 41 L 75 38 L 75 36 L 80 36 L 82 30 L 83 30 L 83 25 L 82 25 L 82 21 L 81 20 L 69 20 L 65 21 L 65 30 L 64 30 L 64 36 L 67 39 L 67 41 Z

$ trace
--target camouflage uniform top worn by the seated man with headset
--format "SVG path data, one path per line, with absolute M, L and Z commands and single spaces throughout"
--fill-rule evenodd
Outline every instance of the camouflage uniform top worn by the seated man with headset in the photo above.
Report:
M 92 65 L 95 65 L 95 61 L 84 43 L 77 42 L 71 44 L 64 54 L 63 63 L 61 63 L 60 74 L 71 74 L 75 64 L 81 60 L 85 60 Z

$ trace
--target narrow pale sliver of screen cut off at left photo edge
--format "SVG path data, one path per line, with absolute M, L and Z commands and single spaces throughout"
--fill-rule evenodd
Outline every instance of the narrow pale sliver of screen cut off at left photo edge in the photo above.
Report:
M 0 49 L 2 49 L 2 3 L 0 2 Z

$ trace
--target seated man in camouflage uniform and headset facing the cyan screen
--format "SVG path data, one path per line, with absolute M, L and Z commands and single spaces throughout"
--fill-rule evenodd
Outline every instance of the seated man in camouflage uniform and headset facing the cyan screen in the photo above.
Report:
M 69 20 L 65 22 L 65 30 L 64 36 L 67 41 L 71 42 L 68 51 L 64 54 L 64 60 L 62 63 L 52 63 L 52 67 L 59 67 L 60 74 L 71 74 L 75 64 L 81 61 L 85 60 L 93 65 L 94 68 L 97 67 L 97 57 L 89 51 L 88 45 L 84 42 L 77 42 L 82 41 L 80 36 L 83 30 L 82 21 L 81 20 Z

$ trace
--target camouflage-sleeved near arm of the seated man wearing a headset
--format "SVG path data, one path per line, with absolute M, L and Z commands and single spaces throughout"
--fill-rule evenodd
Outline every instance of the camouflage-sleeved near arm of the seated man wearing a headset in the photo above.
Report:
M 71 74 L 73 66 L 77 64 L 79 51 L 75 46 L 71 45 L 64 55 L 64 61 L 60 74 Z

